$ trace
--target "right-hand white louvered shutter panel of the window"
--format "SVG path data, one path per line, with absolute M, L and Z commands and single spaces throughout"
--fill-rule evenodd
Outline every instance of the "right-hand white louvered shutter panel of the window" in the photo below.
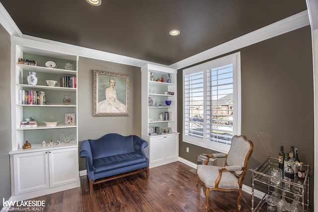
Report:
M 233 64 L 206 73 L 206 139 L 231 144 L 233 137 Z

